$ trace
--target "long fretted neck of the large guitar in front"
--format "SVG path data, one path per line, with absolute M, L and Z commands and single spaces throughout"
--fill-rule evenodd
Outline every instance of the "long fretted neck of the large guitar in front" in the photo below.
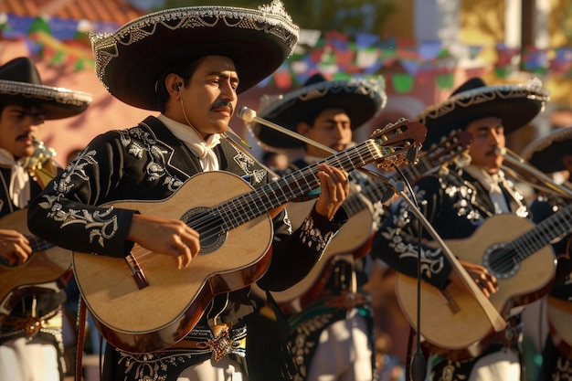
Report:
M 260 186 L 228 203 L 219 205 L 216 207 L 217 214 L 225 217 L 223 218 L 223 225 L 226 230 L 237 228 L 244 222 L 260 217 L 270 210 L 284 205 L 296 197 L 304 196 L 312 189 L 317 188 L 320 185 L 318 177 L 320 164 L 328 164 L 349 172 L 372 163 L 383 155 L 384 153 L 373 140 L 367 140 L 290 175 L 284 175 L 275 182 Z

